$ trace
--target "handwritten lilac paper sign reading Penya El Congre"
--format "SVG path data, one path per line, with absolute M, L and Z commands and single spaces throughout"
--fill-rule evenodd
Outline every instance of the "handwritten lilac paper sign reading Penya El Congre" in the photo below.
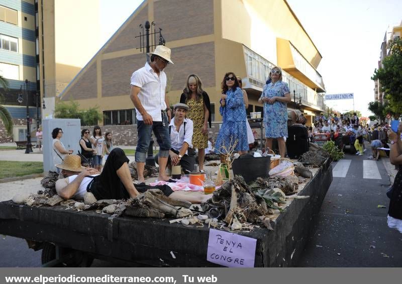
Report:
M 254 267 L 257 240 L 210 229 L 207 260 L 228 267 Z

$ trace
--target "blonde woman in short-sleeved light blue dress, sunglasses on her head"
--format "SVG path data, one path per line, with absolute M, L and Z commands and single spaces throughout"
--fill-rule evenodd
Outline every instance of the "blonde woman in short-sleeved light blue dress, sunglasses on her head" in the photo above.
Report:
M 287 137 L 287 103 L 291 100 L 287 83 L 282 82 L 282 69 L 274 67 L 269 73 L 271 82 L 264 86 L 260 103 L 264 103 L 265 147 L 272 148 L 272 139 L 278 139 L 279 154 L 285 157 Z M 268 81 L 269 81 L 268 79 Z

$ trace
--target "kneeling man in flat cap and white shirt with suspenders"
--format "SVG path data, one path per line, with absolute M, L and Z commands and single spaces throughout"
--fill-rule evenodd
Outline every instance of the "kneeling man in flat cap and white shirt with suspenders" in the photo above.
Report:
M 195 157 L 187 154 L 187 149 L 192 148 L 193 123 L 191 119 L 185 117 L 188 105 L 176 103 L 173 109 L 174 117 L 169 123 L 171 148 L 168 163 L 172 166 L 180 165 L 184 173 L 188 174 L 194 171 L 195 165 Z

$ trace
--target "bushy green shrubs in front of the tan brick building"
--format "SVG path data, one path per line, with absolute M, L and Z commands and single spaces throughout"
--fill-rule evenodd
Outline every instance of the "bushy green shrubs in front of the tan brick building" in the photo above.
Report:
M 54 115 L 57 118 L 79 118 L 81 125 L 96 125 L 102 119 L 102 114 L 98 109 L 98 106 L 94 106 L 80 110 L 78 102 L 71 98 L 68 102 L 56 103 Z

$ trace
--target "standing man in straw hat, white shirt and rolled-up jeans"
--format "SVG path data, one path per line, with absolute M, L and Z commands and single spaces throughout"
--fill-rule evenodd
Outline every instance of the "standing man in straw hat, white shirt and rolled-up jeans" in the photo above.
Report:
M 144 67 L 131 76 L 130 98 L 134 103 L 137 116 L 138 141 L 135 161 L 139 183 L 145 182 L 144 167 L 152 130 L 159 144 L 158 180 L 169 180 L 165 169 L 170 150 L 168 128 L 170 108 L 168 108 L 168 97 L 165 96 L 167 80 L 163 70 L 173 62 L 170 60 L 170 49 L 163 45 L 158 45 L 149 55 L 151 62 L 145 63 Z

